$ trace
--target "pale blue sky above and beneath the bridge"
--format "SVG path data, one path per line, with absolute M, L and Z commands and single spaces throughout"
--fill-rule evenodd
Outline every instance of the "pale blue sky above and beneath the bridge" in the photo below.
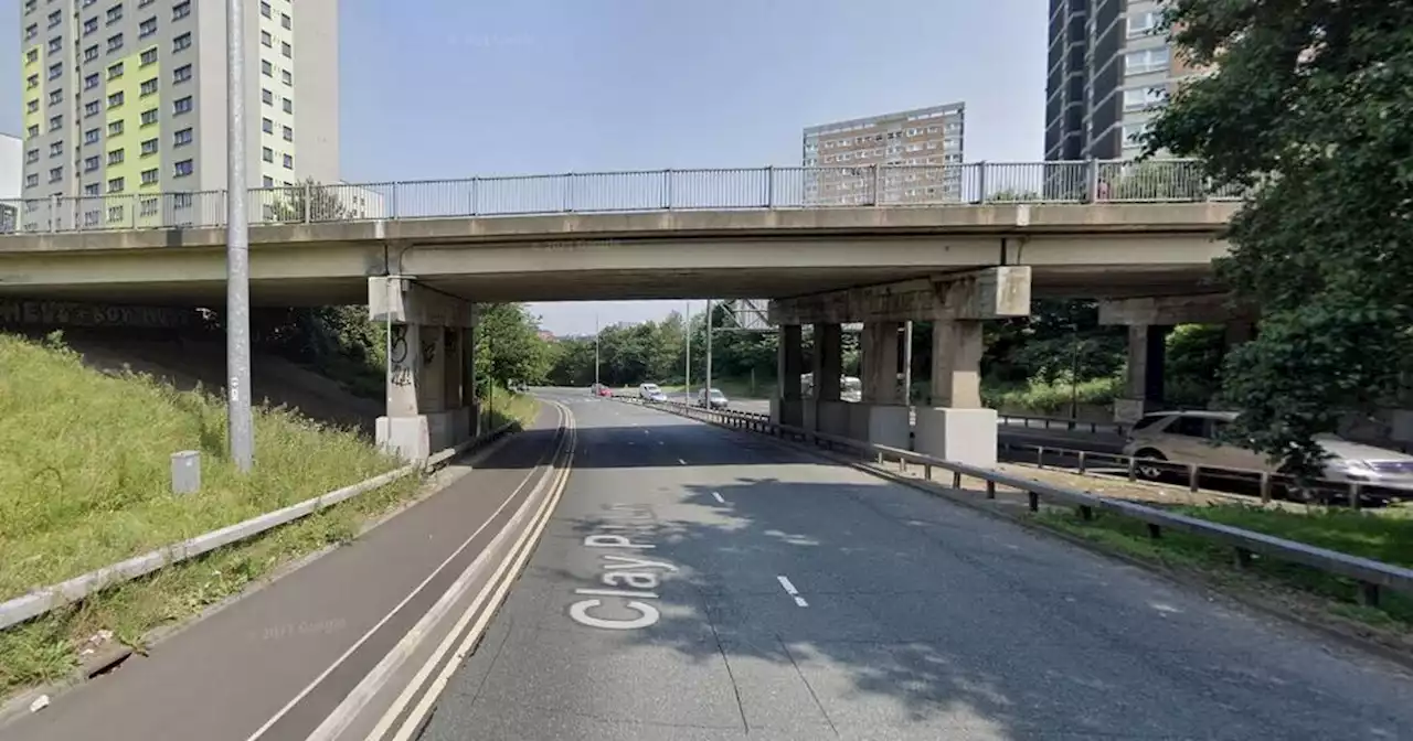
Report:
M 216 0 L 202 0 L 219 6 Z M 20 128 L 18 14 L 0 128 Z M 254 0 L 252 0 L 254 6 Z M 962 100 L 966 159 L 1041 158 L 1044 0 L 342 0 L 343 178 L 800 162 L 805 126 Z M 682 302 L 537 305 L 545 329 Z M 695 309 L 694 309 L 695 311 Z

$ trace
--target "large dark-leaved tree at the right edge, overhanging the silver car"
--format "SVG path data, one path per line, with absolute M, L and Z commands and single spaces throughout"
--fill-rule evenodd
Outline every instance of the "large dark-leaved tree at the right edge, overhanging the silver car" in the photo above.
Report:
M 1413 1 L 1170 0 L 1195 68 L 1146 134 L 1246 189 L 1219 277 L 1260 308 L 1232 351 L 1234 435 L 1301 473 L 1351 411 L 1393 398 L 1413 326 Z

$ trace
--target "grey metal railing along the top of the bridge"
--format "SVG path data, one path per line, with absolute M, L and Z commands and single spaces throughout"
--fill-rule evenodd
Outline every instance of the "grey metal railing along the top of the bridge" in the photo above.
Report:
M 134 183 L 136 185 L 136 183 Z M 252 224 L 657 210 L 1229 200 L 1194 159 L 969 162 L 571 172 L 252 188 Z M 0 202 L 0 231 L 225 224 L 226 193 L 136 192 Z

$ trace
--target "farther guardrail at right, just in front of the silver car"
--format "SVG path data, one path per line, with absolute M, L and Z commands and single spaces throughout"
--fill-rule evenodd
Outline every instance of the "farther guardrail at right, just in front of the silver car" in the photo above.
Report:
M 1201 488 L 1202 480 L 1218 478 L 1229 484 L 1242 484 L 1255 488 L 1262 502 L 1270 502 L 1276 493 L 1282 493 L 1294 501 L 1318 504 L 1345 498 L 1349 507 L 1359 510 L 1366 502 L 1413 498 L 1410 493 L 1378 487 L 1364 481 L 1335 481 L 1330 478 L 1300 480 L 1294 476 L 1259 469 L 1178 463 L 1166 459 L 1080 450 L 1056 445 L 1009 443 L 1000 440 L 998 446 L 1002 450 L 1029 453 L 1027 457 L 1031 457 L 1030 462 L 1037 469 L 1074 469 L 1075 473 L 1088 474 L 1095 469 L 1112 466 L 1122 470 L 1129 481 L 1181 477 L 1187 483 L 1188 491 L 1193 493 Z M 1074 463 L 1067 463 L 1067 459 L 1074 460 Z

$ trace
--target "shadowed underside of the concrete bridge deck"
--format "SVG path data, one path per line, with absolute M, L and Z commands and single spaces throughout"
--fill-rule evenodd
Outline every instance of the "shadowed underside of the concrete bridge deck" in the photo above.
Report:
M 978 265 L 982 267 L 982 265 Z M 420 282 L 480 302 L 788 298 L 937 275 L 918 268 L 791 268 L 760 271 L 538 271 L 422 277 Z M 942 271 L 945 272 L 945 271 Z M 1210 292 L 1210 271 L 1170 265 L 1034 267 L 1037 298 L 1129 298 Z M 0 296 L 103 303 L 211 306 L 225 302 L 223 281 L 154 281 L 24 287 L 0 284 Z M 367 278 L 253 279 L 257 306 L 367 302 Z

